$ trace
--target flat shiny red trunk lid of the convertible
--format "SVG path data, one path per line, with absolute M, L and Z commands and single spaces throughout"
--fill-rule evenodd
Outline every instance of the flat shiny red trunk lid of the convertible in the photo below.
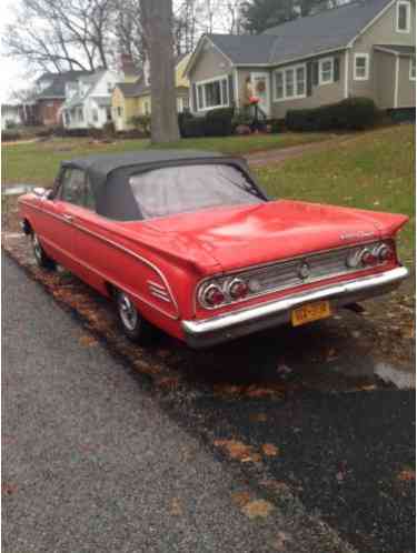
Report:
M 208 254 L 230 271 L 378 240 L 406 221 L 404 215 L 278 200 L 182 213 L 145 225 L 193 252 L 200 249 L 201 257 Z

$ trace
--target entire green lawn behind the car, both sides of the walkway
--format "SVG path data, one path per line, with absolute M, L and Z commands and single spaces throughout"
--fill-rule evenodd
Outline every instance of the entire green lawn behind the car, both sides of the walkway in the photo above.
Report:
M 244 154 L 328 138 L 329 134 L 325 133 L 254 134 L 188 139 L 169 147 Z M 8 145 L 2 149 L 2 182 L 48 185 L 52 183 L 62 159 L 146 148 L 150 148 L 147 140 L 90 144 L 88 139 Z M 415 259 L 414 151 L 415 125 L 396 125 L 347 137 L 337 148 L 306 152 L 302 158 L 257 169 L 256 173 L 272 197 L 408 214 L 410 224 L 401 233 L 400 254 L 409 263 Z

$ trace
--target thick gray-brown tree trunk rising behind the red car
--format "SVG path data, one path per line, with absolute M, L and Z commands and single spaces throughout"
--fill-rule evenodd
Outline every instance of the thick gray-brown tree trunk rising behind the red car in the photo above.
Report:
M 178 140 L 175 88 L 172 0 L 142 0 L 142 17 L 150 61 L 151 141 Z

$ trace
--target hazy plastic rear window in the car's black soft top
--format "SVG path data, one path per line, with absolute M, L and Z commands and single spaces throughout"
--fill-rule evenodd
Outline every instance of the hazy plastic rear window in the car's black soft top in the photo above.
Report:
M 265 201 L 239 169 L 227 164 L 161 168 L 132 175 L 129 183 L 143 219 Z

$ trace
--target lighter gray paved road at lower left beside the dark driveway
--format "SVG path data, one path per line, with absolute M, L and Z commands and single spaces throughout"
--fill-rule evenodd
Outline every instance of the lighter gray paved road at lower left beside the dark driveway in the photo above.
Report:
M 249 520 L 247 483 L 9 259 L 2 286 L 4 553 L 351 551 L 302 506 Z

